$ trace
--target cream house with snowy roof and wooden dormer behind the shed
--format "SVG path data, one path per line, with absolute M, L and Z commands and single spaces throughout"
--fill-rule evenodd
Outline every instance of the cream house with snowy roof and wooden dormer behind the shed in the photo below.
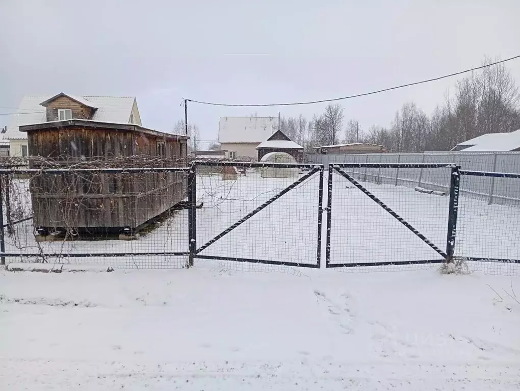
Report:
M 59 98 L 65 106 L 58 110 L 59 118 L 49 118 L 47 101 L 56 101 Z M 68 103 L 66 103 L 68 102 Z M 70 103 L 70 108 L 66 107 Z M 141 126 L 141 117 L 137 108 L 135 97 L 114 96 L 74 96 L 60 93 L 58 95 L 26 95 L 22 98 L 20 106 L 11 122 L 7 126 L 5 139 L 9 141 L 9 153 L 11 156 L 25 157 L 28 155 L 27 132 L 20 132 L 21 125 L 31 125 L 52 120 L 72 119 L 74 103 L 87 106 L 92 109 L 93 121 L 112 123 L 133 123 Z M 56 110 L 55 110 L 56 111 Z M 76 112 L 76 111 L 74 111 Z M 53 114 L 55 114 L 53 112 Z

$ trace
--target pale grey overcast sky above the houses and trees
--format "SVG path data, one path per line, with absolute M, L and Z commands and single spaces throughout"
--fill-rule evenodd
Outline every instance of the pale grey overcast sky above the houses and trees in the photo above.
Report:
M 326 99 L 518 55 L 518 15 L 518 0 L 0 0 L 0 113 L 23 95 L 136 96 L 143 125 L 171 132 L 183 98 Z M 520 60 L 506 66 L 520 83 Z M 430 114 L 454 82 L 343 101 L 345 116 L 387 126 L 406 101 Z M 324 106 L 191 103 L 188 121 L 214 140 L 220 116 L 310 118 Z

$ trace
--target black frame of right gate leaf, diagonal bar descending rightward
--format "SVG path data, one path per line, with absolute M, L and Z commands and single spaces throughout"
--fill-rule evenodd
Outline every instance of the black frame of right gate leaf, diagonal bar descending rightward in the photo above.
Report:
M 448 215 L 448 239 L 446 244 L 446 252 L 439 249 L 432 241 L 428 240 L 421 232 L 415 229 L 411 224 L 408 223 L 404 218 L 399 216 L 395 211 L 388 207 L 383 201 L 375 197 L 369 190 L 363 187 L 356 179 L 341 170 L 342 168 L 443 168 L 451 167 L 450 177 L 450 206 Z M 388 212 L 394 217 L 399 223 L 404 225 L 410 231 L 412 231 L 419 239 L 425 242 L 428 246 L 432 247 L 443 259 L 427 259 L 427 260 L 412 260 L 412 261 L 382 261 L 382 262 L 354 262 L 354 263 L 330 263 L 330 240 L 331 240 L 331 216 L 332 216 L 332 180 L 333 172 L 346 178 L 355 187 L 365 193 L 371 200 L 381 206 L 383 210 Z M 446 260 L 450 260 L 453 257 L 454 245 L 455 245 L 455 234 L 457 224 L 457 208 L 458 208 L 458 197 L 459 197 L 459 167 L 453 164 L 406 164 L 406 163 L 394 163 L 394 164 L 381 164 L 381 163 L 330 163 L 329 164 L 329 183 L 327 193 L 327 249 L 326 249 L 326 267 L 358 267 L 358 266 L 386 266 L 386 265 L 413 265 L 413 264 L 430 264 L 430 263 L 444 263 Z

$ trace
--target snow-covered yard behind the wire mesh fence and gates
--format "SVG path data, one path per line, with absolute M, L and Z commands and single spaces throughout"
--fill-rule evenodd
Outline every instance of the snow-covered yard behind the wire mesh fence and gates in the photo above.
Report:
M 327 175 L 325 178 L 327 179 Z M 197 200 L 198 203 L 203 203 L 203 206 L 197 210 L 198 247 L 209 242 L 295 180 L 296 178 L 261 178 L 254 171 L 248 172 L 246 177 L 239 176 L 238 180 L 231 181 L 222 181 L 220 175 L 199 175 Z M 368 182 L 362 182 L 362 185 L 439 249 L 446 251 L 449 197 L 419 193 L 401 186 L 375 185 Z M 326 207 L 327 181 L 323 187 L 323 207 Z M 316 265 L 318 195 L 319 175 L 314 174 L 208 246 L 200 255 Z M 456 255 L 520 259 L 520 246 L 516 238 L 518 221 L 520 208 L 488 205 L 484 200 L 472 199 L 461 194 Z M 188 212 L 181 210 L 138 240 L 36 243 L 32 221 L 29 220 L 16 225 L 15 234 L 6 236 L 6 252 L 187 252 L 187 223 Z M 323 214 L 322 223 L 324 243 L 326 214 Z M 321 250 L 323 263 L 324 247 L 323 245 Z M 380 205 L 336 173 L 333 177 L 330 255 L 331 264 L 443 259 Z M 173 268 L 182 267 L 186 263 L 186 256 L 69 257 L 66 260 L 72 263 L 110 264 L 124 268 Z M 484 265 L 491 267 L 488 263 Z M 493 267 L 497 269 L 502 266 Z

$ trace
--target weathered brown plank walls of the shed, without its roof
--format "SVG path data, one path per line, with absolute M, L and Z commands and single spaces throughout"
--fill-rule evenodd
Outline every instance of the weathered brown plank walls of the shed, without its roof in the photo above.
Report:
M 30 131 L 28 138 L 32 155 L 64 166 L 76 159 L 146 155 L 158 157 L 154 167 L 180 167 L 187 159 L 186 140 L 142 132 L 61 128 Z M 135 228 L 184 200 L 187 178 L 184 173 L 42 174 L 31 179 L 30 189 L 37 227 Z

